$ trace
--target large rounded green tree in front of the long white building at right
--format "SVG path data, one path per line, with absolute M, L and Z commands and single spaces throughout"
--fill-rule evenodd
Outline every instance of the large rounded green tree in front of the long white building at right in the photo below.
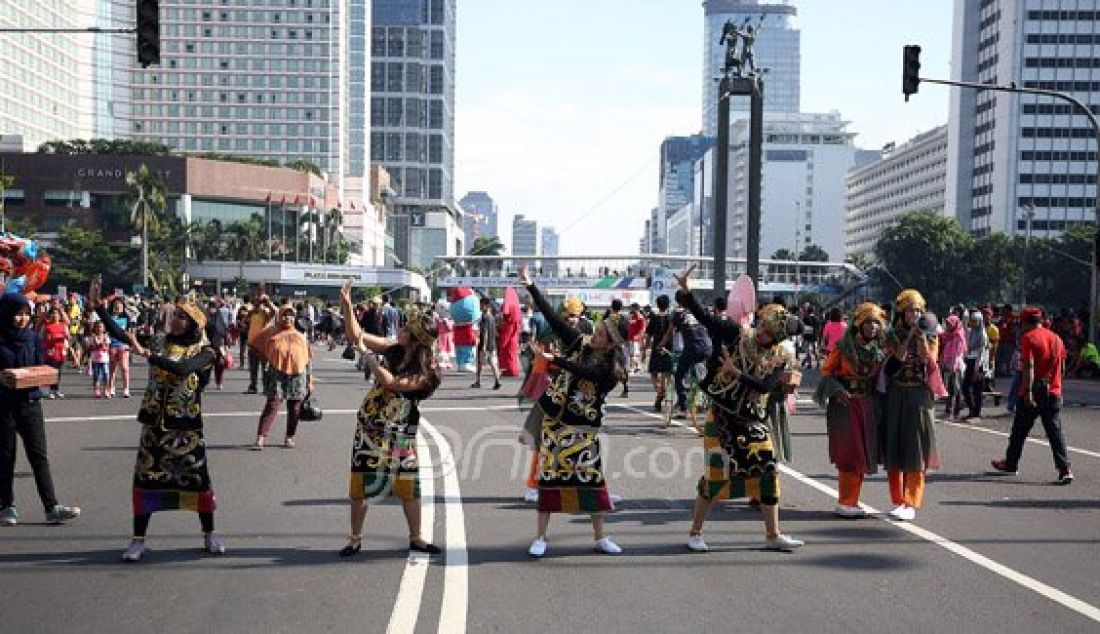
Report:
M 963 258 L 972 247 L 974 238 L 955 218 L 912 211 L 882 232 L 875 244 L 875 258 L 902 285 L 920 291 L 928 307 L 938 311 L 966 297 Z M 880 288 L 894 287 L 886 271 L 877 267 L 871 275 Z

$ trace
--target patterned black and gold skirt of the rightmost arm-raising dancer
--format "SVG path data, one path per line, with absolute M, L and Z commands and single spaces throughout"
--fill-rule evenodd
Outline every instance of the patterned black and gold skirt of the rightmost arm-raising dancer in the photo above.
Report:
M 705 468 L 696 491 L 705 500 L 751 498 L 779 503 L 779 471 L 767 423 L 712 408 L 703 435 Z

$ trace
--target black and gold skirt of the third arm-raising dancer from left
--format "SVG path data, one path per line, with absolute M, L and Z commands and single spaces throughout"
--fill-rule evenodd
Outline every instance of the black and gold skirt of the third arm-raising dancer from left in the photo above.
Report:
M 595 514 L 614 510 L 604 481 L 600 429 L 543 418 L 539 512 Z

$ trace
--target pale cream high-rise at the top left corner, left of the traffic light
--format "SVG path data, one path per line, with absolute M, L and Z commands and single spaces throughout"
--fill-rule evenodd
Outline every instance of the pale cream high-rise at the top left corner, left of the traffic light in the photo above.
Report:
M 0 26 L 23 29 L 132 28 L 124 0 L 7 0 Z M 21 136 L 19 150 L 45 141 L 125 138 L 130 125 L 133 35 L 4 33 L 0 134 Z

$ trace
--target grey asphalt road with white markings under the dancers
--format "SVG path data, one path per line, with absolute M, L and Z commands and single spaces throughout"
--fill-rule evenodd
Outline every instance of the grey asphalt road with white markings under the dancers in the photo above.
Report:
M 46 402 L 61 498 L 84 509 L 48 526 L 26 462 L 15 495 L 24 522 L 0 529 L 0 631 L 30 632 L 1096 632 L 1100 627 L 1100 415 L 1064 413 L 1077 480 L 1053 484 L 1049 450 L 1030 442 L 1018 477 L 990 473 L 1011 419 L 1000 407 L 976 424 L 941 424 L 944 469 L 928 478 L 916 521 L 833 515 L 836 472 L 824 417 L 800 395 L 794 458 L 782 481 L 782 528 L 806 542 L 794 554 L 762 549 L 759 513 L 719 505 L 707 554 L 689 553 L 701 440 L 649 414 L 652 390 L 636 376 L 612 398 L 605 471 L 623 496 L 608 516 L 619 556 L 593 551 L 584 517 L 554 516 L 550 550 L 530 560 L 535 512 L 521 501 L 527 453 L 513 396 L 472 390 L 449 374 L 424 407 L 425 534 L 446 547 L 407 556 L 400 510 L 372 507 L 363 553 L 337 557 L 362 375 L 320 352 L 320 423 L 298 448 L 248 449 L 262 398 L 245 373 L 205 401 L 218 529 L 229 554 L 201 553 L 198 520 L 155 515 L 148 554 L 124 565 L 138 400 L 94 401 L 88 379 L 66 374 L 68 397 Z M 135 392 L 144 365 L 135 364 Z M 487 383 L 486 383 L 487 384 Z M 1067 401 L 1100 405 L 1096 383 Z M 272 440 L 282 440 L 283 423 Z M 1036 426 L 1035 439 L 1042 439 Z M 429 461 L 429 460 L 426 460 Z M 427 470 L 426 470 L 427 471 Z M 427 473 L 426 473 L 427 474 Z M 864 502 L 889 510 L 883 476 Z

